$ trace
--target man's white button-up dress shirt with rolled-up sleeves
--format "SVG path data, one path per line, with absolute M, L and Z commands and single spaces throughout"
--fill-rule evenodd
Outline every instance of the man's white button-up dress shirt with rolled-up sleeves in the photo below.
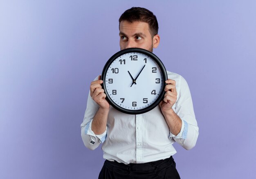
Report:
M 169 158 L 176 153 L 172 145 L 175 141 L 187 150 L 193 148 L 198 138 L 198 125 L 189 86 L 182 76 L 168 71 L 167 74 L 169 79 L 176 81 L 177 101 L 173 110 L 182 119 L 182 127 L 177 136 L 170 132 L 159 105 L 149 112 L 137 115 L 125 114 L 110 106 L 106 131 L 95 135 L 91 125 L 99 106 L 89 92 L 81 124 L 85 146 L 94 150 L 102 143 L 104 159 L 125 164 Z

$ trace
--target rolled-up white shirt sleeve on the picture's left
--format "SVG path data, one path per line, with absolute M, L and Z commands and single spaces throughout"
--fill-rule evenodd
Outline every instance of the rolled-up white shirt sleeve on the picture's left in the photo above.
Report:
M 96 78 L 97 79 L 97 78 Z M 95 79 L 95 80 L 96 80 Z M 99 110 L 99 105 L 92 99 L 90 92 L 88 95 L 87 107 L 81 124 L 81 137 L 85 147 L 90 150 L 96 149 L 100 143 L 103 143 L 107 136 L 107 128 L 103 134 L 96 135 L 92 131 L 92 120 Z

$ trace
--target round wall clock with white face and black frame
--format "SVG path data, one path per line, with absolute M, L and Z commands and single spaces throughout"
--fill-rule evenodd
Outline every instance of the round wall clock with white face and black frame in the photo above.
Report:
M 126 114 L 142 114 L 164 98 L 167 73 L 155 54 L 128 48 L 107 61 L 101 79 L 110 105 Z

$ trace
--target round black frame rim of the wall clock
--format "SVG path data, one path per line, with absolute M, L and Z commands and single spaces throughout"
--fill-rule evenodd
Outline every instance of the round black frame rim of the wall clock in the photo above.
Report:
M 145 50 L 145 49 L 128 48 L 128 49 L 118 51 L 116 54 L 114 54 L 112 57 L 110 57 L 110 59 L 107 61 L 106 65 L 103 67 L 103 71 L 101 73 L 101 80 L 103 80 L 103 83 L 101 84 L 101 86 L 104 89 L 104 92 L 106 94 L 106 100 L 110 103 L 110 105 L 112 105 L 112 107 L 114 107 L 115 109 L 119 110 L 120 112 L 124 112 L 126 114 L 142 114 L 142 113 L 148 112 L 150 110 L 153 110 L 163 100 L 164 94 L 165 94 L 164 87 L 165 87 L 166 83 L 164 83 L 164 85 L 162 87 L 162 91 L 161 91 L 160 95 L 158 96 L 157 100 L 154 103 L 152 103 L 151 105 L 149 105 L 148 107 L 145 107 L 145 108 L 140 109 L 140 110 L 128 110 L 128 109 L 125 109 L 125 108 L 117 105 L 114 101 L 112 101 L 112 99 L 108 95 L 108 92 L 107 92 L 107 89 L 106 89 L 106 83 L 105 83 L 106 73 L 108 71 L 108 68 L 112 64 L 112 62 L 115 59 L 117 59 L 119 56 L 121 56 L 123 54 L 127 54 L 127 53 L 132 53 L 132 52 L 146 54 L 147 56 L 149 56 L 153 60 L 155 60 L 155 62 L 157 63 L 157 65 L 159 65 L 159 67 L 162 71 L 164 81 L 167 80 L 168 77 L 167 77 L 167 72 L 166 72 L 166 69 L 164 67 L 164 64 L 162 63 L 162 61 L 155 54 L 153 54 L 150 51 Z

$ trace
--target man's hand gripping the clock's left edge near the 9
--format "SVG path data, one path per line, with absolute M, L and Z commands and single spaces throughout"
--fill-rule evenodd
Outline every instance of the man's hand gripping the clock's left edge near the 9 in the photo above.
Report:
M 101 80 L 101 75 L 99 75 L 98 80 L 92 81 L 90 85 L 90 95 L 101 109 L 109 110 L 110 104 L 106 100 L 106 94 L 104 93 L 104 89 L 102 89 L 101 87 L 102 83 L 103 81 Z

